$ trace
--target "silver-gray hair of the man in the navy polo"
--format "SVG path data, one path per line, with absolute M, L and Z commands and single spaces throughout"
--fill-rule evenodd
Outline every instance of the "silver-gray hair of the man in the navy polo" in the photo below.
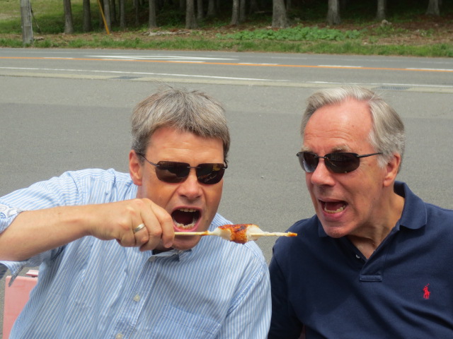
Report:
M 304 131 L 311 115 L 316 109 L 326 105 L 336 105 L 348 99 L 365 101 L 369 106 L 372 117 L 372 130 L 369 133 L 369 143 L 376 150 L 382 153 L 379 156 L 379 165 L 384 167 L 394 153 L 401 155 L 403 160 L 404 145 L 406 136 L 404 124 L 398 113 L 390 107 L 382 97 L 379 97 L 372 90 L 359 86 L 345 86 L 341 88 L 328 88 L 318 90 L 307 100 L 307 107 L 302 117 L 301 135 L 304 139 Z M 401 168 L 401 166 L 400 166 Z M 399 170 L 399 169 L 398 169 Z

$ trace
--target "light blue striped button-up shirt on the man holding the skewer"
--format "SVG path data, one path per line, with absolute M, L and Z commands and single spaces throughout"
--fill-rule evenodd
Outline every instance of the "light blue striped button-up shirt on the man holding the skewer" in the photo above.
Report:
M 20 210 L 135 198 L 129 174 L 67 172 L 0 198 L 0 232 Z M 228 224 L 216 215 L 210 229 Z M 153 254 L 84 237 L 28 261 L 0 262 L 0 277 L 40 265 L 16 338 L 266 338 L 270 283 L 254 242 L 203 237 L 189 251 Z

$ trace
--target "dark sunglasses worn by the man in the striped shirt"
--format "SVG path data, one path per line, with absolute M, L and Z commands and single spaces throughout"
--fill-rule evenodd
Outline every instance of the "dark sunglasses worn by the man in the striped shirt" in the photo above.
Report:
M 143 154 L 137 153 L 137 155 L 143 157 L 149 164 L 156 167 L 157 179 L 171 184 L 183 182 L 187 179 L 191 168 L 195 168 L 198 182 L 201 184 L 217 184 L 224 177 L 225 169 L 228 167 L 228 165 L 215 163 L 190 166 L 187 162 L 176 161 L 159 161 L 155 164 L 144 157 Z

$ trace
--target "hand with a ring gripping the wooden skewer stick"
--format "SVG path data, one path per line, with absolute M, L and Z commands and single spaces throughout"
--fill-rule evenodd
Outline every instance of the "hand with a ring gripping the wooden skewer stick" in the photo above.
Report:
M 173 220 L 164 208 L 147 198 L 92 206 L 95 222 L 89 233 L 98 239 L 116 239 L 125 247 L 139 246 L 141 251 L 156 249 L 162 243 L 171 247 L 174 239 Z M 144 224 L 142 230 L 133 230 Z

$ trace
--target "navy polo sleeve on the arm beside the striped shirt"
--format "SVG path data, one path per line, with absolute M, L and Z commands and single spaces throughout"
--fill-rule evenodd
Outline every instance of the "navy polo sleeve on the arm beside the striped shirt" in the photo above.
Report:
M 272 319 L 268 339 L 297 339 L 303 324 L 292 311 L 288 299 L 288 286 L 275 256 L 270 261 L 270 285 L 272 291 Z M 294 286 L 293 288 L 297 288 Z

